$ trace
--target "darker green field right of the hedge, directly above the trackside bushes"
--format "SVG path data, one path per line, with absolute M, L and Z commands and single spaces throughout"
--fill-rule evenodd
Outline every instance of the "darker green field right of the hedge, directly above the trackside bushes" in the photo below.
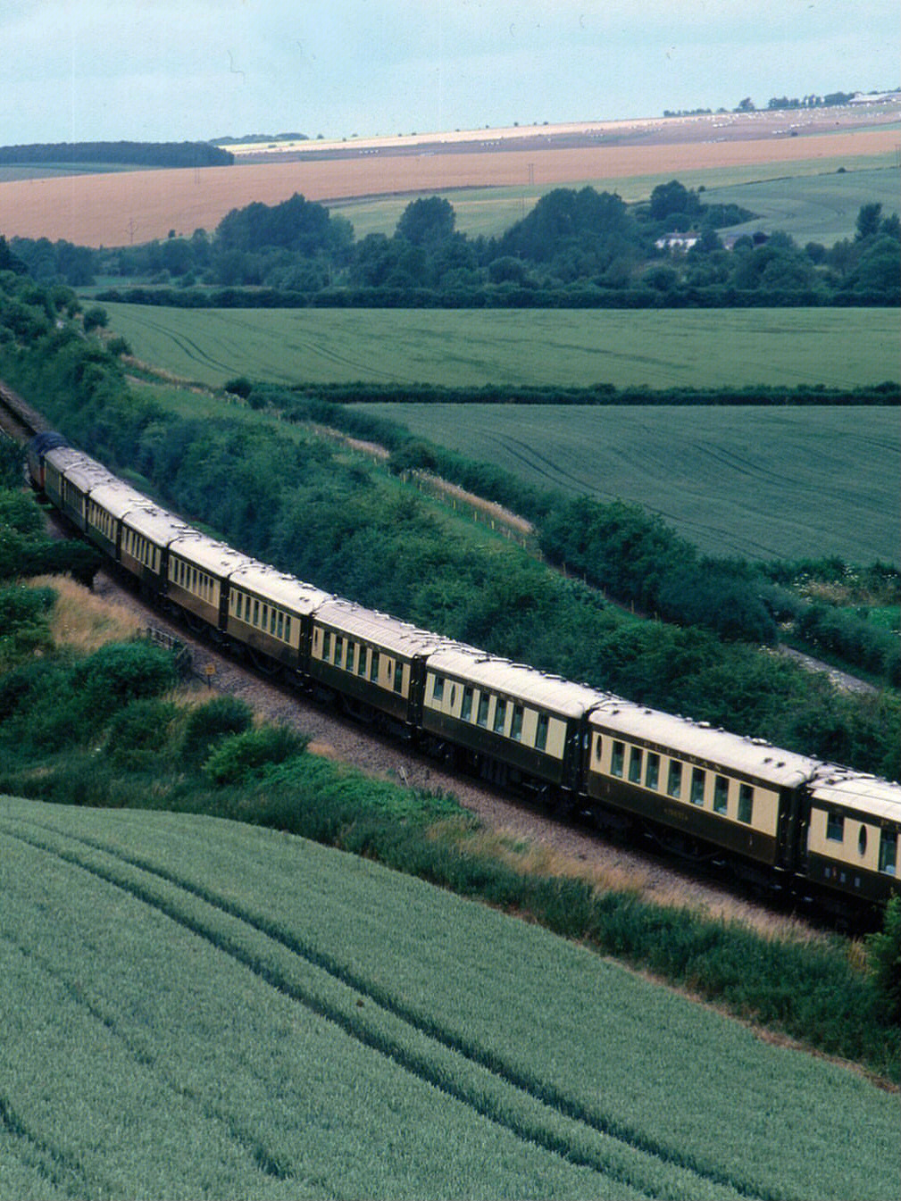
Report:
M 359 407 L 541 488 L 642 504 L 708 552 L 899 561 L 896 410 Z

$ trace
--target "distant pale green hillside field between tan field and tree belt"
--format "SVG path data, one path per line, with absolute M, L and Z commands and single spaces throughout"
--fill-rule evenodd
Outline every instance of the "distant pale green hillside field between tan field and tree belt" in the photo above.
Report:
M 837 174 L 839 167 L 845 172 Z M 626 203 L 646 201 L 658 184 L 667 184 L 673 172 L 634 175 L 627 179 L 586 179 L 568 186 L 590 186 L 619 193 Z M 804 245 L 822 241 L 831 245 L 854 234 L 854 219 L 861 204 L 879 201 L 887 213 L 897 210 L 899 173 L 894 155 L 858 159 L 811 159 L 808 161 L 756 163 L 682 171 L 686 187 L 704 187 L 710 204 L 734 201 L 760 214 L 753 228 L 786 229 Z M 553 185 L 557 186 L 557 185 Z M 469 237 L 495 238 L 521 220 L 536 201 L 553 186 L 467 187 L 442 192 L 457 214 L 457 228 Z M 412 197 L 342 201 L 328 205 L 353 225 L 357 238 L 369 233 L 392 234 Z

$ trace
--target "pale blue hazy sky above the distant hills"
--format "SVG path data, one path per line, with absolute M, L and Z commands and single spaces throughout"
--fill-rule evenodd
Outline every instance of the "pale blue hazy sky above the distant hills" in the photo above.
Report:
M 2 0 L 0 145 L 326 138 L 896 88 L 897 0 Z

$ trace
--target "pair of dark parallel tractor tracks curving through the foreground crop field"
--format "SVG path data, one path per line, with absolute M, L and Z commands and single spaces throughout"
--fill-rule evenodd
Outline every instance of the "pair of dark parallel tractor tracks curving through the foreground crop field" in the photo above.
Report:
M 681 1195 L 770 1196 L 747 1181 L 730 1178 L 714 1163 L 703 1163 L 700 1157 L 696 1161 L 678 1147 L 617 1119 L 614 1112 L 604 1112 L 603 1101 L 589 1106 L 569 1098 L 553 1083 L 506 1062 L 500 1052 L 444 1030 L 440 1020 L 423 1020 L 393 994 L 390 986 L 354 974 L 297 933 L 280 928 L 278 921 L 209 886 L 101 841 L 62 835 L 38 821 L 23 825 L 7 826 L 7 836 L 165 914 L 282 996 L 524 1141 L 614 1181 L 638 1184 L 648 1196 L 672 1195 L 661 1189 L 661 1166 L 669 1187 L 678 1184 Z

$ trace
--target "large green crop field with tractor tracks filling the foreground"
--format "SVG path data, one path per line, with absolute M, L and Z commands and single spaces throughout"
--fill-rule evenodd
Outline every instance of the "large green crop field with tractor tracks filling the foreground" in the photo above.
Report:
M 897 1193 L 894 1095 L 539 927 L 222 820 L 0 844 L 4 1197 Z

